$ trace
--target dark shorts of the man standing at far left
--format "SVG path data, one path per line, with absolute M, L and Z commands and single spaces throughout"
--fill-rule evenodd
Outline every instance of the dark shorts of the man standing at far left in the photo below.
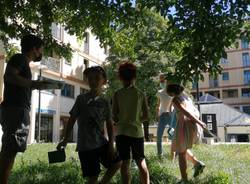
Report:
M 29 110 L 19 107 L 1 107 L 2 149 L 4 152 L 24 152 L 29 135 Z

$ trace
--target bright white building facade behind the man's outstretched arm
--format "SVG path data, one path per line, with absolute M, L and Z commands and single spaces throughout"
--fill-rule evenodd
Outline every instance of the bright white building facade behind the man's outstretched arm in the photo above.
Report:
M 58 142 L 62 138 L 64 127 L 69 119 L 69 111 L 76 97 L 88 90 L 83 80 L 84 69 L 101 65 L 107 57 L 106 50 L 100 47 L 99 40 L 90 30 L 86 30 L 83 41 L 78 41 L 75 36 L 69 35 L 61 25 L 53 24 L 52 34 L 55 39 L 71 45 L 73 57 L 71 61 L 67 61 L 52 54 L 51 57 L 44 57 L 40 63 L 30 64 L 33 80 L 41 77 L 65 81 L 61 90 L 34 90 L 32 92 L 31 125 L 28 137 L 30 144 L 37 141 Z M 0 89 L 3 86 L 1 80 L 2 77 Z M 75 142 L 76 136 L 77 125 L 74 127 L 70 141 Z

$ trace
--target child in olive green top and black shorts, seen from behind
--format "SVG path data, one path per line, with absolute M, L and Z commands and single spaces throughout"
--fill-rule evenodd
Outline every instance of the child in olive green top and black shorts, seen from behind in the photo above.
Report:
M 131 181 L 130 152 L 140 171 L 141 183 L 149 184 L 149 173 L 144 155 L 142 122 L 148 119 L 148 105 L 142 91 L 134 86 L 136 66 L 125 62 L 119 66 L 123 88 L 113 97 L 113 119 L 117 123 L 116 146 L 122 159 L 122 183 Z

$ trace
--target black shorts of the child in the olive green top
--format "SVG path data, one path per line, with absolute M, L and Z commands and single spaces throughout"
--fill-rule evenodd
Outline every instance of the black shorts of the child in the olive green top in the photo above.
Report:
M 132 151 L 134 160 L 144 159 L 144 138 L 135 138 L 125 135 L 116 136 L 116 148 L 122 160 L 129 160 Z

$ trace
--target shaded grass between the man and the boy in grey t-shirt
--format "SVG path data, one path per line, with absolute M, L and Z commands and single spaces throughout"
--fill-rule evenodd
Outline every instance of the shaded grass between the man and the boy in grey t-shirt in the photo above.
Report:
M 15 184 L 82 184 L 84 183 L 80 167 L 76 160 L 52 164 L 41 162 L 23 163 L 10 177 Z

